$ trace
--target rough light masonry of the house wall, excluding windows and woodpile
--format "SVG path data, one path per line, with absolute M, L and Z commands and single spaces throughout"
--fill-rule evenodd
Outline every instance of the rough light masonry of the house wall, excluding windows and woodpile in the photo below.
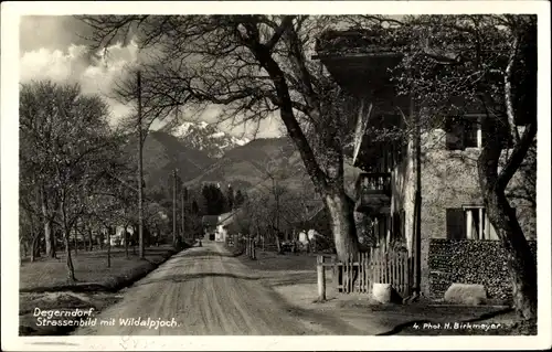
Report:
M 432 239 L 447 237 L 447 209 L 482 205 L 477 173 L 477 159 L 480 150 L 478 148 L 447 150 L 446 132 L 443 129 L 433 129 L 422 134 L 421 149 L 421 285 L 422 292 L 428 296 L 431 290 L 429 277 L 432 275 L 428 265 L 429 246 Z M 404 239 L 408 253 L 412 255 L 416 190 L 416 156 L 413 140 L 407 142 L 405 157 L 392 171 L 391 182 L 391 214 L 396 214 L 401 210 L 404 211 Z M 517 186 L 523 185 L 524 182 L 521 174 L 517 173 L 510 181 L 507 194 Z M 509 198 L 509 200 L 510 204 L 517 209 L 518 218 L 526 236 L 529 239 L 534 238 L 534 206 L 532 206 L 531 202 L 519 198 Z M 365 226 L 365 217 L 363 214 L 355 214 L 360 228 Z

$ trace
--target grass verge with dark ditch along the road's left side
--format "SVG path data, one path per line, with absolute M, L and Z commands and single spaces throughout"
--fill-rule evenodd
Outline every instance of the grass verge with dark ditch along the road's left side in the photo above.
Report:
M 189 247 L 188 245 L 184 246 Z M 130 250 L 131 253 L 131 250 Z M 72 312 L 94 310 L 94 314 L 117 302 L 118 290 L 138 281 L 177 252 L 170 245 L 146 248 L 144 259 L 124 249 L 112 250 L 112 265 L 107 267 L 105 250 L 81 252 L 74 257 L 77 282 L 66 280 L 65 258 L 22 263 L 20 267 L 20 335 L 64 335 L 76 326 L 42 326 L 36 310 Z M 63 318 L 81 321 L 84 318 Z

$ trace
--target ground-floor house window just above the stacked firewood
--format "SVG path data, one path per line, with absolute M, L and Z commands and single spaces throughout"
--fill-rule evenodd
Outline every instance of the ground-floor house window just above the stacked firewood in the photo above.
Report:
M 482 206 L 447 209 L 446 223 L 449 239 L 498 239 Z

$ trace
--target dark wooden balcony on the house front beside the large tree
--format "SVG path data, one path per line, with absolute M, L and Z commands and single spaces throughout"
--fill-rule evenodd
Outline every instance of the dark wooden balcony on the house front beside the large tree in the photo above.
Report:
M 391 206 L 391 173 L 363 172 L 357 179 L 355 210 L 362 213 L 389 213 Z

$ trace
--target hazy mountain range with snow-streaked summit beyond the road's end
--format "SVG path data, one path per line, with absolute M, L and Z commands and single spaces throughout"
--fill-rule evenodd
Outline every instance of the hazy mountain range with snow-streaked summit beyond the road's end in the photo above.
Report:
M 144 145 L 147 190 L 172 189 L 172 171 L 191 189 L 203 183 L 232 184 L 248 192 L 269 192 L 272 178 L 288 191 L 314 194 L 299 152 L 289 138 L 238 139 L 208 124 L 190 124 L 174 129 L 150 131 Z M 136 156 L 130 143 L 128 151 Z M 136 146 L 134 143 L 134 146 Z M 352 184 L 358 171 L 346 163 L 346 180 Z

